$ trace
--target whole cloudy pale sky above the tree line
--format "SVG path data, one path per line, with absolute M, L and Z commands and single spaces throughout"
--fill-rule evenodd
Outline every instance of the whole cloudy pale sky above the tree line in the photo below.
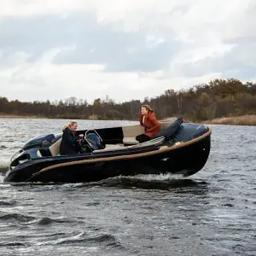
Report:
M 0 96 L 117 102 L 255 81 L 255 0 L 0 0 Z

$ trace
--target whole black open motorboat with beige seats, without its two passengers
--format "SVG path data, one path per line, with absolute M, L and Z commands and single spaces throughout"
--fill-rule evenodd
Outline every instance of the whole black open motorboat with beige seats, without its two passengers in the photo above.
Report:
M 199 172 L 211 148 L 206 125 L 160 122 L 160 133 L 146 143 L 135 137 L 141 125 L 77 131 L 84 134 L 79 154 L 60 155 L 61 134 L 35 137 L 11 159 L 5 182 L 81 183 L 137 174 Z M 105 145 L 102 147 L 102 145 Z M 101 149 L 102 148 L 102 149 Z

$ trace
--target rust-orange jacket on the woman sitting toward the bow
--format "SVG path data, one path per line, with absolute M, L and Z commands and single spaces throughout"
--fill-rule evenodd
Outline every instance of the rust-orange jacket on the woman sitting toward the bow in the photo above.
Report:
M 145 134 L 148 137 L 154 137 L 160 131 L 160 123 L 155 118 L 154 112 L 148 112 L 145 114 L 143 121 L 143 114 L 139 116 L 140 124 L 145 128 Z

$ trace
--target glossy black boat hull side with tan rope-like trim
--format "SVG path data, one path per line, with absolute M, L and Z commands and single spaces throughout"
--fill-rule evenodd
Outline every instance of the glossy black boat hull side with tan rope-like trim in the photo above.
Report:
M 5 182 L 82 183 L 108 177 L 137 174 L 181 174 L 184 177 L 199 172 L 207 162 L 211 148 L 210 132 L 194 142 L 179 147 L 163 145 L 133 154 L 98 154 L 94 157 L 55 157 L 31 160 L 9 170 Z M 155 151 L 155 152 L 154 152 Z M 151 152 L 151 153 L 150 153 Z M 120 155 L 121 154 L 121 155 Z M 45 172 L 42 172 L 45 171 Z

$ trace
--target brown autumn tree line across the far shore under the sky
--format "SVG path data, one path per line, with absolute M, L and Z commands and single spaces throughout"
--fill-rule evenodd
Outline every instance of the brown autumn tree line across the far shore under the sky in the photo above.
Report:
M 244 114 L 256 114 L 256 84 L 238 79 L 214 79 L 187 90 L 166 90 L 160 96 L 143 101 L 117 103 L 106 96 L 92 104 L 69 97 L 55 102 L 9 101 L 0 96 L 0 113 L 32 115 L 55 119 L 137 119 L 142 104 L 154 108 L 158 119 L 180 116 L 207 120 Z

